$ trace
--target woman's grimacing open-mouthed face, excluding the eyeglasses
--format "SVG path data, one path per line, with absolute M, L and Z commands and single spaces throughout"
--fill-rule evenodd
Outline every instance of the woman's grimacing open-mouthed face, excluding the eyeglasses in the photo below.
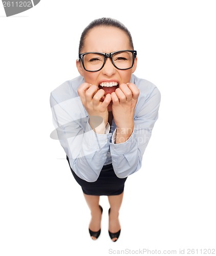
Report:
M 133 50 L 130 46 L 130 41 L 128 35 L 121 29 L 115 27 L 97 27 L 89 31 L 85 38 L 84 47 L 82 53 L 84 52 L 103 52 L 110 53 L 119 50 Z M 117 82 L 117 84 L 130 82 L 131 74 L 136 70 L 137 58 L 135 58 L 134 66 L 128 70 L 119 70 L 115 68 L 112 64 L 110 58 L 106 59 L 106 63 L 102 70 L 97 72 L 85 71 L 82 62 L 77 61 L 77 69 L 81 76 L 84 77 L 85 82 L 94 84 L 100 87 L 102 82 Z M 113 83 L 114 84 L 114 83 Z M 105 95 L 112 93 L 116 86 L 103 87 Z M 109 110 L 111 104 L 109 106 Z

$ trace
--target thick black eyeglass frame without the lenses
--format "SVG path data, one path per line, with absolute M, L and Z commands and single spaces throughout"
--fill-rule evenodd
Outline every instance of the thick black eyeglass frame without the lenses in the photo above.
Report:
M 131 65 L 130 68 L 127 68 L 127 69 L 119 69 L 118 67 L 116 67 L 116 65 L 115 65 L 115 63 L 114 63 L 114 61 L 113 61 L 113 59 L 112 59 L 112 56 L 113 56 L 113 54 L 115 54 L 115 53 L 117 53 L 117 52 L 131 52 L 131 53 L 133 54 L 133 61 L 132 61 L 132 65 Z M 99 53 L 99 54 L 101 54 L 101 55 L 104 56 L 104 63 L 103 63 L 103 65 L 102 65 L 102 67 L 101 67 L 100 69 L 92 71 L 92 70 L 87 70 L 87 69 L 85 68 L 84 61 L 83 61 L 83 56 L 85 56 L 85 55 L 88 54 L 88 53 Z M 98 72 L 98 71 L 102 70 L 103 67 L 104 67 L 104 65 L 105 65 L 105 63 L 106 63 L 107 58 L 110 58 L 110 59 L 111 59 L 112 64 L 113 64 L 113 66 L 114 66 L 116 69 L 119 69 L 119 70 L 128 70 L 128 69 L 133 68 L 134 60 L 135 60 L 135 58 L 136 58 L 136 55 L 137 55 L 137 52 L 136 52 L 135 50 L 120 50 L 120 51 L 115 51 L 115 52 L 110 52 L 110 53 L 104 53 L 104 52 L 84 52 L 84 53 L 80 53 L 80 54 L 78 55 L 78 61 L 81 59 L 83 68 L 84 68 L 84 70 L 87 71 L 87 72 Z

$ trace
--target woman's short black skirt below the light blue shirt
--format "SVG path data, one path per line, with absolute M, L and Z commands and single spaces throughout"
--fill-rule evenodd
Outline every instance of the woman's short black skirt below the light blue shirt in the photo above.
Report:
M 67 161 L 70 166 L 68 157 Z M 122 194 L 124 191 L 127 177 L 123 179 L 118 178 L 114 173 L 112 164 L 104 165 L 97 181 L 94 182 L 88 182 L 81 179 L 75 174 L 71 167 L 70 170 L 77 183 L 82 187 L 83 193 L 86 195 L 116 196 Z

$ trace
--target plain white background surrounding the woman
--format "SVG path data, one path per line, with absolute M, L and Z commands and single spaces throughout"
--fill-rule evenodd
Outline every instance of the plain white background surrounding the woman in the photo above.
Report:
M 216 248 L 214 6 L 41 0 L 6 17 L 1 5 L 1 255 L 97 256 L 145 248 L 186 254 L 187 248 Z M 108 235 L 107 197 L 100 202 L 101 236 L 90 239 L 81 188 L 59 141 L 50 138 L 50 92 L 79 75 L 81 32 L 104 16 L 128 27 L 138 53 L 135 75 L 161 92 L 143 165 L 125 184 L 116 243 Z

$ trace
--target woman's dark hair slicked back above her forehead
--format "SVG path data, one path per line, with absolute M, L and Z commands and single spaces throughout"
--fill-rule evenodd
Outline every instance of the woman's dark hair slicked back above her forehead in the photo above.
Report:
M 95 28 L 95 27 L 115 27 L 115 28 L 119 28 L 122 31 L 124 31 L 128 37 L 129 37 L 129 41 L 130 41 L 130 45 L 131 48 L 133 49 L 133 40 L 132 40 L 132 36 L 130 31 L 125 27 L 125 25 L 123 25 L 121 22 L 119 22 L 116 19 L 113 18 L 98 18 L 98 19 L 94 19 L 82 32 L 81 37 L 80 37 L 80 45 L 79 45 L 79 54 L 82 51 L 82 48 L 84 47 L 84 41 L 85 38 L 88 34 L 88 32 Z M 134 49 L 133 49 L 134 50 Z

